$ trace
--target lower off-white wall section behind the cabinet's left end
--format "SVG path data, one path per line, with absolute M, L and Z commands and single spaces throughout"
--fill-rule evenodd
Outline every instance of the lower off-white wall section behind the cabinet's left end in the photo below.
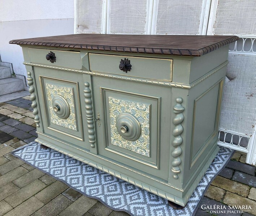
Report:
M 65 27 L 65 28 L 64 28 Z M 3 62 L 13 64 L 18 75 L 27 76 L 20 46 L 9 44 L 10 40 L 54 35 L 69 35 L 74 30 L 74 19 L 39 19 L 0 22 L 0 54 Z

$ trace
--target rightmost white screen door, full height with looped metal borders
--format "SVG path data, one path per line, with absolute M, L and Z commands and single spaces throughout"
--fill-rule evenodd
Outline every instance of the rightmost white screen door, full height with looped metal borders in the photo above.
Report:
M 237 35 L 230 45 L 219 145 L 256 162 L 256 0 L 212 0 L 208 35 Z

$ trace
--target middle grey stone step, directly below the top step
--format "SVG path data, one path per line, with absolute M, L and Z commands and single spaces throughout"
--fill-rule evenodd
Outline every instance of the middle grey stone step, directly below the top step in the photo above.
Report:
M 16 78 L 0 79 L 0 95 L 5 95 L 21 90 L 24 90 L 22 80 Z

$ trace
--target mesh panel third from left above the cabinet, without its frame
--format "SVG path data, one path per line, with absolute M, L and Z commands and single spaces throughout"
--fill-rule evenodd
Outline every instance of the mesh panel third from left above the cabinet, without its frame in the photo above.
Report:
M 159 0 L 156 34 L 198 35 L 202 0 Z

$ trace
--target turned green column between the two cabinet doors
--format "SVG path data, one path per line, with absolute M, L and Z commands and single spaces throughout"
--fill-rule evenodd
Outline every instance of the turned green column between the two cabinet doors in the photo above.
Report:
M 95 131 L 94 131 L 94 116 L 92 111 L 92 94 L 91 89 L 89 88 L 90 84 L 84 82 L 84 102 L 86 109 L 86 119 L 87 119 L 87 128 L 88 128 L 88 138 L 89 143 L 91 143 L 91 148 L 95 148 Z

